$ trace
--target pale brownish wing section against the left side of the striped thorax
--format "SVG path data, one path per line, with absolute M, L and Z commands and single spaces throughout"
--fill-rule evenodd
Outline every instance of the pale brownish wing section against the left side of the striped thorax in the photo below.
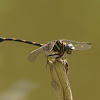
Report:
M 47 44 L 44 45 L 43 50 L 44 50 L 44 56 L 47 56 L 51 53 L 56 41 L 51 41 Z

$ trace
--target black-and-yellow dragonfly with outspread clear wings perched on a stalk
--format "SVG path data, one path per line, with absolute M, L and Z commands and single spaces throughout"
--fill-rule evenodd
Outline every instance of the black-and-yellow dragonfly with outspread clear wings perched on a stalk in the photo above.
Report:
M 77 42 L 67 39 L 58 39 L 48 42 L 47 44 L 40 44 L 37 42 L 31 42 L 27 40 L 22 39 L 16 39 L 16 38 L 2 38 L 0 37 L 0 42 L 3 41 L 17 41 L 17 42 L 23 42 L 27 44 L 32 44 L 39 46 L 38 49 L 33 50 L 28 60 L 34 62 L 36 57 L 44 51 L 44 56 L 47 57 L 54 57 L 55 59 L 62 58 L 63 55 L 70 55 L 73 53 L 74 50 L 86 50 L 91 48 L 91 43 L 89 42 Z

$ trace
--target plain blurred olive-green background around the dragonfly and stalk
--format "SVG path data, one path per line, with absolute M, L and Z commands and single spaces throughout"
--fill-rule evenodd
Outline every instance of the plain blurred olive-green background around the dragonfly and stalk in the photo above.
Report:
M 74 100 L 100 99 L 99 0 L 0 0 L 0 37 L 92 43 L 91 49 L 68 56 L 68 78 Z M 0 100 L 55 100 L 46 58 L 27 60 L 36 48 L 0 43 Z

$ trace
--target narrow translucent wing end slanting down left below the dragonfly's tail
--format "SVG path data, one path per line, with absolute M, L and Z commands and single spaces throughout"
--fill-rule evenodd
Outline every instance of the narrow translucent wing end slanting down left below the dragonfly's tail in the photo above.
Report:
M 31 62 L 34 62 L 36 57 L 42 52 L 42 50 L 43 50 L 43 47 L 40 47 L 40 48 L 32 51 L 28 57 L 28 60 Z

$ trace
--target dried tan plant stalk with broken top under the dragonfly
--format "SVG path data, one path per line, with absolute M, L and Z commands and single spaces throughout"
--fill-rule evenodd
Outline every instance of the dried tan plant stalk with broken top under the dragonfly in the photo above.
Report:
M 48 62 L 52 87 L 56 100 L 73 100 L 72 92 L 67 78 L 67 60 L 52 60 Z

